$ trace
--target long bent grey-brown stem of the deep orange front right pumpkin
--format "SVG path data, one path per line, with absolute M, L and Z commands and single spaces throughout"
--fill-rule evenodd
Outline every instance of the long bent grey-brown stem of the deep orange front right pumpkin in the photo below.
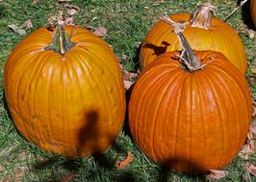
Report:
M 183 68 L 186 71 L 193 72 L 199 69 L 202 69 L 206 64 L 201 65 L 200 60 L 195 57 L 192 52 L 192 47 L 190 46 L 189 42 L 185 38 L 184 34 L 182 33 L 185 29 L 186 23 L 176 23 L 169 18 L 169 16 L 164 16 L 163 18 L 172 28 L 175 34 L 177 34 L 181 47 L 182 52 L 179 58 L 182 60 Z

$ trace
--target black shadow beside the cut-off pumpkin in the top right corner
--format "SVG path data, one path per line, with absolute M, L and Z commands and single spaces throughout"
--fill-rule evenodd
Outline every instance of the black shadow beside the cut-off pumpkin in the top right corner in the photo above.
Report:
M 242 1 L 243 0 L 239 0 L 237 5 L 239 6 Z M 250 16 L 250 0 L 247 1 L 246 3 L 244 3 L 244 5 L 242 7 L 242 19 L 243 19 L 244 24 L 249 29 L 255 30 L 252 19 L 251 19 L 251 16 Z

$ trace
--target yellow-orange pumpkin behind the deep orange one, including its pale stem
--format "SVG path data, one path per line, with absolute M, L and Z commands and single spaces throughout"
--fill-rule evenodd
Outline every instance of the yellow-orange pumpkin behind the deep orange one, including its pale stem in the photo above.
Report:
M 240 36 L 226 23 L 211 17 L 213 6 L 206 4 L 191 13 L 175 13 L 169 17 L 177 23 L 185 23 L 185 36 L 192 49 L 213 50 L 222 53 L 242 73 L 246 71 L 246 55 Z M 168 51 L 180 51 L 181 47 L 173 29 L 161 20 L 146 35 L 141 44 L 140 60 L 143 69 L 149 62 Z

